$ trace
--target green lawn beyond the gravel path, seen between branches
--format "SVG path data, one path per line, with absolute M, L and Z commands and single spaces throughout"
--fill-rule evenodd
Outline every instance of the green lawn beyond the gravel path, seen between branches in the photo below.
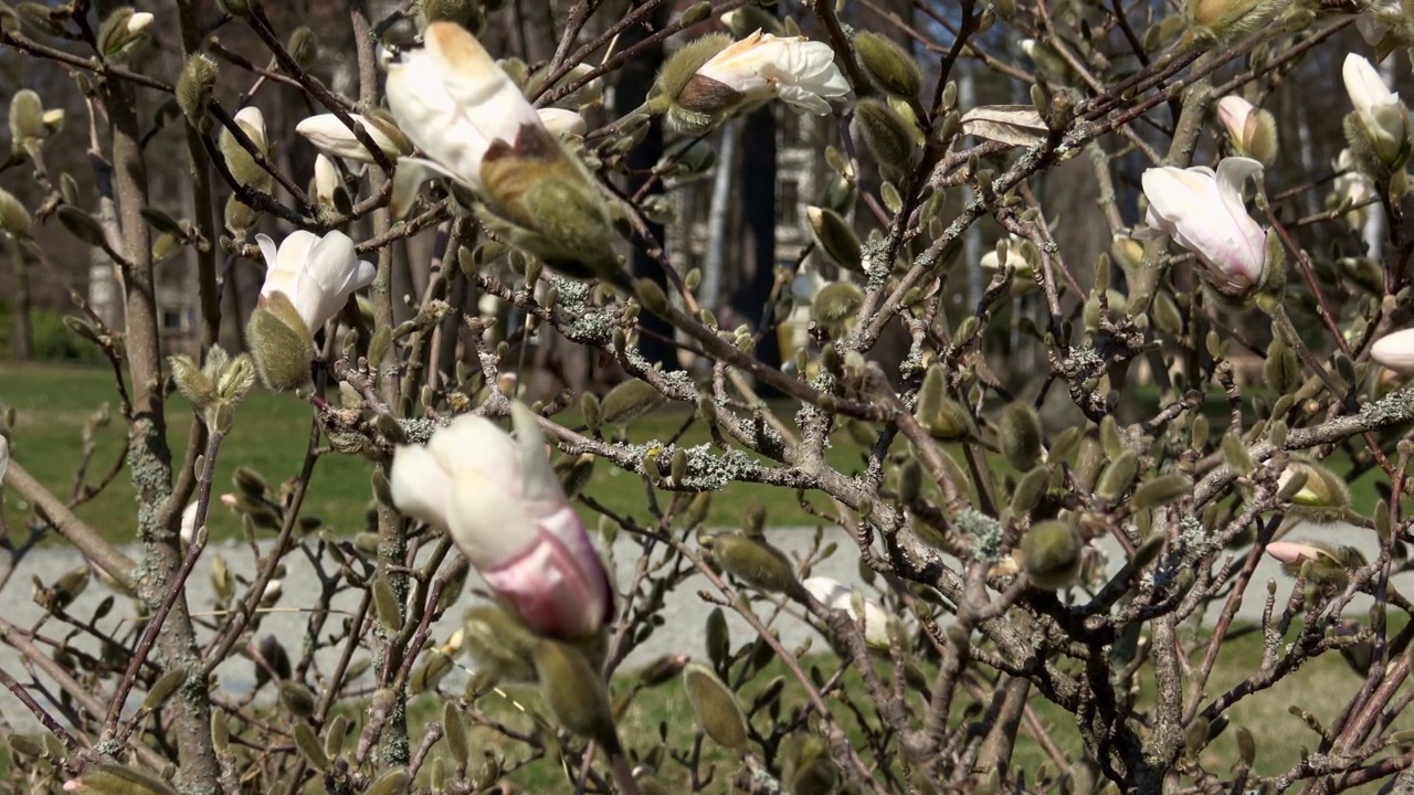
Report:
M 61 498 L 72 491 L 74 475 L 82 460 L 83 424 L 105 402 L 115 412 L 115 420 L 96 433 L 88 482 L 100 480 L 123 448 L 124 429 L 120 417 L 116 417 L 117 396 L 112 371 L 105 366 L 74 365 L 0 366 L 0 406 L 13 406 L 17 412 L 16 427 L 11 430 L 13 460 Z M 174 457 L 180 458 L 185 450 L 192 413 L 180 393 L 174 393 L 167 405 L 168 441 Z M 782 409 L 789 419 L 793 409 Z M 666 406 L 636 420 L 628 436 L 633 441 L 666 441 L 691 412 L 691 406 Z M 310 439 L 310 417 L 311 407 L 290 395 L 264 389 L 252 392 L 236 410 L 236 424 L 222 446 L 216 492 L 230 491 L 230 477 L 238 465 L 256 470 L 271 485 L 296 477 Z M 559 419 L 571 427 L 580 424 L 577 414 L 566 413 Z M 707 429 L 694 423 L 680 443 L 693 446 L 706 441 L 710 441 Z M 848 472 L 861 468 L 860 453 L 860 446 L 851 443 L 847 434 L 839 433 L 827 458 Z M 305 512 L 321 516 L 341 533 L 362 529 L 363 509 L 372 498 L 372 463 L 363 458 L 337 453 L 321 457 L 314 470 Z M 649 522 L 652 516 L 643 489 L 642 477 L 600 464 L 585 494 L 615 512 Z M 713 502 L 708 522 L 735 523 L 742 508 L 752 502 L 765 505 L 768 521 L 776 526 L 814 522 L 800 509 L 793 491 L 758 484 L 732 485 Z M 130 539 L 134 532 L 133 489 L 126 471 L 102 494 L 81 505 L 76 513 L 109 539 Z M 18 498 L 6 498 L 4 518 L 11 528 L 20 526 L 27 515 L 27 506 Z M 233 513 L 218 509 L 212 512 L 211 529 L 214 538 L 233 538 L 239 533 L 240 523 Z

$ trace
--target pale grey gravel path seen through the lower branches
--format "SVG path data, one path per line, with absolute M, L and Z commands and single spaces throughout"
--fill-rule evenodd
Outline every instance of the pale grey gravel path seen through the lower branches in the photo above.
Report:
M 807 549 L 810 542 L 812 530 L 807 529 L 781 529 L 772 530 L 769 538 L 773 543 L 779 545 L 790 555 L 802 553 Z M 1360 547 L 1366 555 L 1373 555 L 1376 549 L 1376 542 L 1373 533 L 1367 530 L 1359 530 L 1356 528 L 1308 528 L 1305 530 L 1298 530 L 1288 536 L 1291 539 L 1314 539 L 1325 538 L 1335 540 L 1336 543 L 1346 543 Z M 853 542 L 843 530 L 833 530 L 826 533 L 826 543 L 837 542 L 839 552 L 827 562 L 816 566 L 814 574 L 827 574 L 841 580 L 844 583 L 857 583 L 857 555 L 850 550 Z M 1103 549 L 1109 556 L 1110 570 L 1118 567 L 1121 556 L 1117 546 L 1104 545 Z M 618 569 L 618 581 L 626 584 L 631 581 L 633 566 L 638 562 L 639 549 L 632 540 L 621 539 L 615 545 L 615 563 Z M 221 556 L 229 566 L 233 574 L 240 577 L 249 577 L 253 571 L 253 560 L 250 549 L 243 545 L 212 545 L 204 553 L 204 560 L 197 564 L 191 581 L 187 586 L 187 600 L 191 610 L 198 617 L 205 615 L 208 621 L 211 618 L 209 611 L 215 607 L 214 591 L 211 587 L 211 579 L 208 577 L 208 570 L 211 560 L 215 556 Z M 20 569 L 14 573 L 7 586 L 7 593 L 0 598 L 6 598 L 6 620 L 21 627 L 33 627 L 42 615 L 38 605 L 34 604 L 30 596 L 30 583 L 34 577 L 40 581 L 48 584 L 62 576 L 65 571 L 72 570 L 79 564 L 78 553 L 65 549 L 41 549 L 31 553 L 21 562 Z M 312 576 L 312 569 L 308 559 L 296 552 L 286 557 L 287 573 L 281 583 L 283 596 L 280 597 L 277 608 L 262 617 L 259 627 L 256 628 L 253 637 L 264 638 L 266 635 L 274 635 L 279 638 L 288 649 L 293 658 L 297 658 L 303 644 L 307 617 L 300 611 L 301 605 L 312 604 L 318 596 L 318 580 Z M 1266 588 L 1261 583 L 1267 579 L 1275 577 L 1278 583 L 1288 581 L 1270 559 L 1264 559 L 1257 570 L 1254 584 L 1249 588 L 1249 598 L 1244 600 L 1240 617 L 1254 620 L 1261 614 L 1263 598 L 1266 597 Z M 1414 574 L 1406 574 L 1397 581 L 1403 583 L 1406 593 L 1414 593 Z M 666 597 L 666 611 L 665 617 L 667 621 L 658 627 L 648 641 L 635 649 L 626 662 L 626 668 L 632 669 L 639 665 L 645 665 L 649 661 L 665 654 L 690 654 L 694 656 L 704 655 L 703 649 L 703 635 L 704 635 L 704 618 L 711 605 L 703 603 L 699 597 L 699 591 L 710 588 L 710 583 L 700 576 L 694 576 L 687 580 L 683 587 L 670 593 Z M 99 581 L 93 581 L 89 588 L 78 598 L 78 601 L 71 607 L 71 614 L 75 617 L 86 618 L 92 615 L 93 608 L 100 600 L 113 591 Z M 1285 594 L 1282 593 L 1282 597 Z M 464 596 L 458 607 L 454 607 L 448 614 L 434 627 L 433 639 L 437 644 L 444 642 L 452 631 L 455 631 L 462 607 L 472 604 L 475 597 Z M 1359 601 L 1360 613 L 1352 613 L 1352 615 L 1363 615 L 1365 604 L 1369 600 Z M 325 624 L 325 635 L 329 632 L 339 632 L 342 621 L 338 620 L 338 614 L 351 614 L 358 605 L 356 596 L 352 593 L 342 594 L 337 598 L 332 610 L 335 617 Z M 119 597 L 115 610 L 105 618 L 100 625 L 105 628 L 113 627 L 116 622 L 123 622 L 123 631 L 130 631 L 132 617 L 134 615 L 133 605 L 129 600 Z M 728 625 L 731 628 L 734 644 L 740 644 L 744 638 L 749 637 L 749 627 L 735 617 L 734 613 L 727 611 Z M 786 648 L 792 648 L 806 638 L 814 635 L 814 631 L 807 627 L 802 620 L 793 618 L 790 615 L 783 615 L 776 622 L 781 631 L 781 639 Z M 68 635 L 66 628 L 51 620 L 44 627 L 44 634 L 51 638 L 62 638 Z M 211 635 L 209 631 L 201 632 L 201 639 Z M 816 648 L 819 646 L 819 638 L 816 638 Z M 89 638 L 78 638 L 74 641 L 74 646 L 85 649 L 88 652 L 96 652 L 96 644 Z M 328 671 L 332 668 L 337 652 L 331 651 L 322 654 L 317 661 L 317 671 Z M 461 663 L 467 659 L 461 658 Z M 13 675 L 21 682 L 30 680 L 30 673 L 20 665 L 20 658 L 8 646 L 0 646 L 0 668 Z M 253 686 L 255 666 L 249 659 L 233 658 L 226 661 L 221 668 L 216 669 L 219 678 L 219 687 L 233 696 L 240 696 L 249 693 Z M 369 678 L 368 673 L 363 675 L 365 683 Z M 445 680 L 445 686 L 452 689 L 460 689 L 464 682 L 465 672 L 455 672 L 454 678 Z M 105 683 L 109 686 L 110 683 Z M 54 690 L 57 692 L 57 690 Z M 42 697 L 41 697 L 42 703 Z M 23 729 L 33 730 L 37 724 L 30 716 L 30 713 L 20 704 L 8 692 L 0 692 L 0 720 L 7 724 Z

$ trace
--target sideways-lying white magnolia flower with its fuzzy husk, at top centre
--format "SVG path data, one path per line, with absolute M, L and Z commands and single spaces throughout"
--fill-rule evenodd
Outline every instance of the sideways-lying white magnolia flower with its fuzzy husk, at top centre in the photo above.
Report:
M 667 124 L 680 133 L 706 133 L 769 99 L 781 99 L 797 113 L 824 116 L 830 99 L 850 93 L 834 65 L 834 51 L 822 41 L 759 30 L 734 44 L 717 37 L 708 41 L 715 52 L 689 45 L 663 66 L 655 85 L 655 93 L 669 102 Z

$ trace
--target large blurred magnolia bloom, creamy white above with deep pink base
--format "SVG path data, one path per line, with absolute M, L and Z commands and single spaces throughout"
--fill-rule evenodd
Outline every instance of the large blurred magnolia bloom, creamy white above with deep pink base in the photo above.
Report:
M 608 574 L 564 498 L 534 414 L 518 439 L 462 414 L 426 447 L 399 447 L 390 485 L 409 516 L 445 528 L 498 596 L 539 635 L 581 639 L 609 618 Z

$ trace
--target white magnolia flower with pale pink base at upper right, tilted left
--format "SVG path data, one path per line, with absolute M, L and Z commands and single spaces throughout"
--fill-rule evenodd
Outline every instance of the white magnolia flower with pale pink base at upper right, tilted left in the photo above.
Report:
M 1141 178 L 1148 197 L 1145 224 L 1137 236 L 1171 235 L 1198 255 L 1219 291 L 1244 296 L 1261 279 L 1267 232 L 1247 215 L 1241 187 L 1261 174 L 1261 163 L 1227 157 L 1210 168 L 1150 168 Z

